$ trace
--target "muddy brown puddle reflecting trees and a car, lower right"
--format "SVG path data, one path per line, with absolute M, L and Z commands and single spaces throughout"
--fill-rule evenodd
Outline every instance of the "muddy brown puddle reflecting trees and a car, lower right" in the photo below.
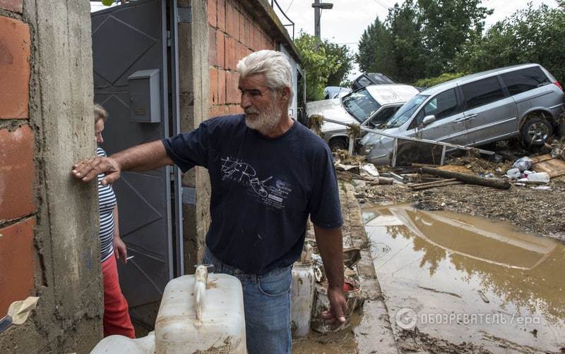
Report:
M 565 353 L 563 244 L 506 222 L 408 205 L 365 205 L 363 219 L 397 338 Z

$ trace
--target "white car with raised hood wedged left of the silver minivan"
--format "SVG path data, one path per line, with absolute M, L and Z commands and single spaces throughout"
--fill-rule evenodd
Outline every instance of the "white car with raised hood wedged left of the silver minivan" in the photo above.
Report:
M 334 121 L 375 128 L 385 123 L 417 93 L 418 90 L 410 85 L 370 85 L 345 97 L 309 102 L 306 112 L 308 116 L 319 114 Z M 323 140 L 328 142 L 332 150 L 347 149 L 349 146 L 346 126 L 324 121 L 321 130 Z M 362 131 L 359 138 L 363 135 Z

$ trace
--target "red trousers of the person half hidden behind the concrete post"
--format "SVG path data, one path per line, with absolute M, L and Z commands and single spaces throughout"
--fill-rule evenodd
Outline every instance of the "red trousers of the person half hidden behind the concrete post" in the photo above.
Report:
M 128 303 L 121 294 L 118 280 L 116 257 L 112 255 L 102 262 L 102 279 L 104 279 L 104 336 L 121 334 L 136 338 L 131 319 L 129 319 Z

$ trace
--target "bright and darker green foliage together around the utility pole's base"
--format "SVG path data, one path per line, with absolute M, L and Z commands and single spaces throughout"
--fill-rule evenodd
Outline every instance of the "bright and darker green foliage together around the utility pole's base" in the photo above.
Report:
M 340 46 L 300 32 L 295 46 L 302 56 L 302 68 L 306 71 L 307 101 L 323 99 L 323 88 L 339 86 L 351 71 L 353 56 L 347 46 Z M 303 83 L 299 83 L 299 97 Z

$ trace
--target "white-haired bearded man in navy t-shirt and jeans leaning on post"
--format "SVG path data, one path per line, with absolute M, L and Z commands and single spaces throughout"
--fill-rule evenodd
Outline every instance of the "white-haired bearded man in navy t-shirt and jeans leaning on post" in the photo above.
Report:
M 345 322 L 342 218 L 333 157 L 323 140 L 288 116 L 292 70 L 278 51 L 256 51 L 237 64 L 244 114 L 219 116 L 190 133 L 73 165 L 102 184 L 121 171 L 177 164 L 210 175 L 210 214 L 203 262 L 242 282 L 249 353 L 290 353 L 292 264 L 304 245 L 307 219 L 328 278 L 323 318 Z

